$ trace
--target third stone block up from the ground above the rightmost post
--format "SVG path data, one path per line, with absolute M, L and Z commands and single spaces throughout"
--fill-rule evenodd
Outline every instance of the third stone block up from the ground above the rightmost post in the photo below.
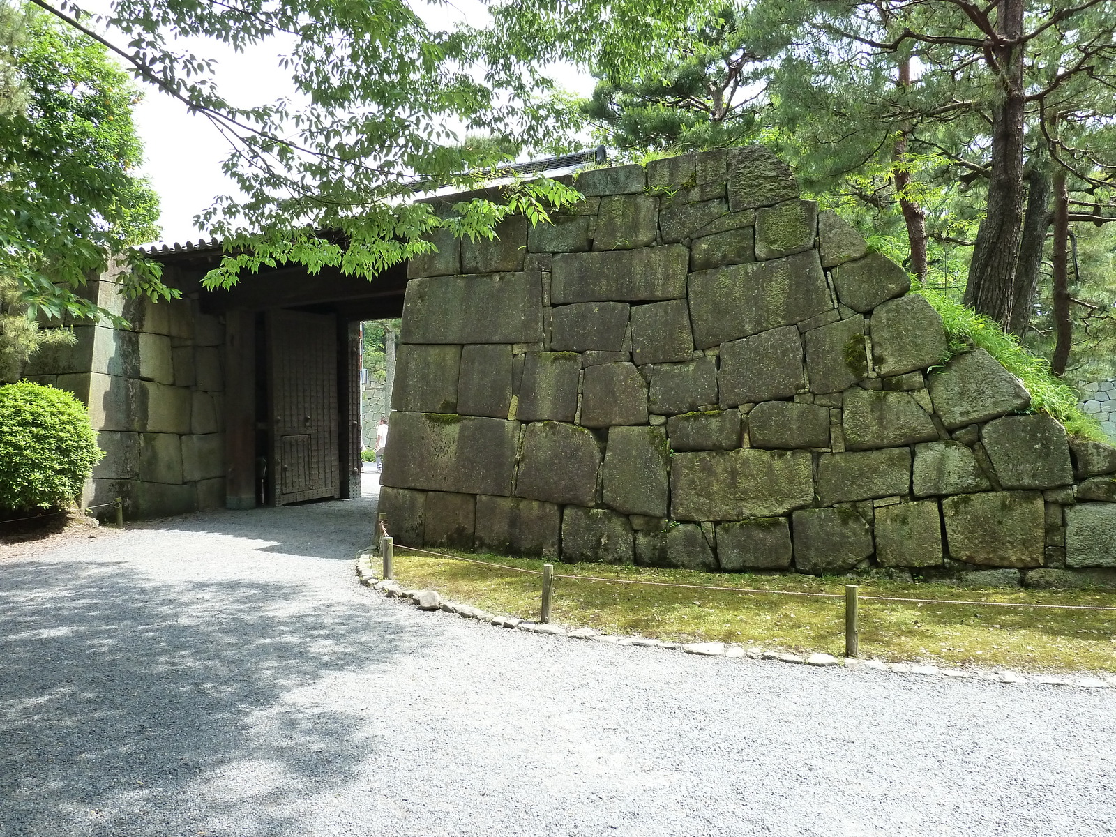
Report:
M 911 393 L 854 386 L 845 391 L 843 403 L 845 446 L 850 451 L 937 439 L 933 420 Z

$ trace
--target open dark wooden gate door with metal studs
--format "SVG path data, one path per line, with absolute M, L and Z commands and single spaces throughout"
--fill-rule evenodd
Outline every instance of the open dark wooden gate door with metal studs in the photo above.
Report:
M 273 502 L 340 497 L 337 320 L 269 311 L 267 343 Z

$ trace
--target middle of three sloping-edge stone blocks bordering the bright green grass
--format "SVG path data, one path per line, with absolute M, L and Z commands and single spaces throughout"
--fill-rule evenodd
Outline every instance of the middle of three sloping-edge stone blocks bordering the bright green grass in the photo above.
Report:
M 1027 410 L 1031 403 L 1022 382 L 982 348 L 956 355 L 932 373 L 930 396 L 950 430 Z

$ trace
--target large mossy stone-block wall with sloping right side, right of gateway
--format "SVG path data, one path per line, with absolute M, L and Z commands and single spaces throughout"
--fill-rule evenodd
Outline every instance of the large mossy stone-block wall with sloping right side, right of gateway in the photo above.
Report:
M 764 148 L 576 186 L 552 225 L 411 263 L 381 494 L 397 542 L 1035 585 L 1116 567 L 1116 450 L 1021 414 L 982 349 L 927 374 L 936 311 Z

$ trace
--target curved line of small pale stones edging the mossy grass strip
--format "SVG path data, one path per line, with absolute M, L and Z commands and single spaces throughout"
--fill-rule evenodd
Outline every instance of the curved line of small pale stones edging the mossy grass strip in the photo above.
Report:
M 1114 689 L 1116 687 L 1116 676 L 1106 677 L 1071 677 L 1046 674 L 1019 674 L 1018 672 L 1000 671 L 966 671 L 963 668 L 941 668 L 936 665 L 925 665 L 920 663 L 885 663 L 881 660 L 860 660 L 858 657 L 835 657 L 831 654 L 815 653 L 808 656 L 790 654 L 779 651 L 762 651 L 760 648 L 745 648 L 740 645 L 727 643 L 672 643 L 662 639 L 652 639 L 645 636 L 613 636 L 602 634 L 590 627 L 567 628 L 562 625 L 541 624 L 521 619 L 518 616 L 497 616 L 487 610 L 472 605 L 463 605 L 456 602 L 443 599 L 435 590 L 408 590 L 404 589 L 394 579 L 382 580 L 376 575 L 375 566 L 372 561 L 372 552 L 367 549 L 360 550 L 356 558 L 356 577 L 365 587 L 383 593 L 387 598 L 402 598 L 415 604 L 420 610 L 445 610 L 458 614 L 466 619 L 487 622 L 497 627 L 512 628 L 531 634 L 547 634 L 550 636 L 565 636 L 571 639 L 591 639 L 595 642 L 609 643 L 612 645 L 632 645 L 642 648 L 664 648 L 670 651 L 683 651 L 687 654 L 699 656 L 724 656 L 724 657 L 747 657 L 749 660 L 777 660 L 782 663 L 795 663 L 815 666 L 844 666 L 853 670 L 893 672 L 895 674 L 923 674 L 941 677 L 953 677 L 964 680 L 980 680 L 992 683 L 1033 683 L 1039 685 L 1054 686 L 1077 686 L 1079 689 Z

